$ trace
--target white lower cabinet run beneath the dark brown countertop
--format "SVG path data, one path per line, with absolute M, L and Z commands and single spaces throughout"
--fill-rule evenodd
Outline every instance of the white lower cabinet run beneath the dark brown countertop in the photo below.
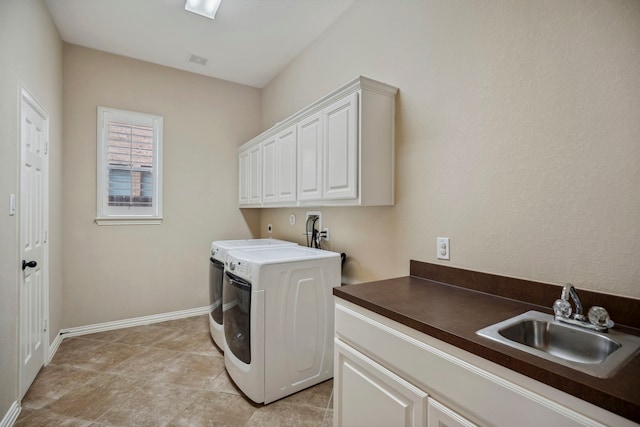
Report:
M 334 348 L 334 427 L 637 427 L 340 298 Z

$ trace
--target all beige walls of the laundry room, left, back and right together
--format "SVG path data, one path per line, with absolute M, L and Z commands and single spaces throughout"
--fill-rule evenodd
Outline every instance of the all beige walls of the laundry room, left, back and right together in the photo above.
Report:
M 18 395 L 19 216 L 7 212 L 20 84 L 51 120 L 51 339 L 207 305 L 214 239 L 272 223 L 302 243 L 305 209 L 238 211 L 235 149 L 358 74 L 400 88 L 397 203 L 322 209 L 346 281 L 405 275 L 413 258 L 640 297 L 639 22 L 633 0 L 360 0 L 261 96 L 76 46 L 63 55 L 44 2 L 0 1 L 0 415 Z M 162 225 L 93 222 L 98 105 L 164 116 Z M 451 261 L 435 259 L 436 236 L 451 238 Z

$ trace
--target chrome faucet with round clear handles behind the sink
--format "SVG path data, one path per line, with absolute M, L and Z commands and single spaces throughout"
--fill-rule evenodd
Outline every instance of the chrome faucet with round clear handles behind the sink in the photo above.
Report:
M 571 315 L 571 303 L 569 298 L 576 306 L 576 312 Z M 555 319 L 559 322 L 569 323 L 571 325 L 582 326 L 584 328 L 595 329 L 599 332 L 607 332 L 609 328 L 612 328 L 614 323 L 609 318 L 609 313 L 602 307 L 593 306 L 589 309 L 589 317 L 583 314 L 582 301 L 578 296 L 576 288 L 567 283 L 562 288 L 562 294 L 560 299 L 557 299 L 553 303 L 553 312 L 555 313 Z

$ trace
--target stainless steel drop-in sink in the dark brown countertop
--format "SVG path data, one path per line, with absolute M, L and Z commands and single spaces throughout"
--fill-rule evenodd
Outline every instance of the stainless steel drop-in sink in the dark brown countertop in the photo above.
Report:
M 478 335 L 600 378 L 612 377 L 640 349 L 640 337 L 596 332 L 528 311 L 477 331 Z

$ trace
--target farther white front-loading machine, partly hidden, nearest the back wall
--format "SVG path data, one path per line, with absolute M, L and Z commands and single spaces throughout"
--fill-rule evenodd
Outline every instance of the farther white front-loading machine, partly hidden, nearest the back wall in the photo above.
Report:
M 222 330 L 222 278 L 227 252 L 237 248 L 279 248 L 298 246 L 297 243 L 278 239 L 217 240 L 211 243 L 209 263 L 209 331 L 211 338 L 224 351 L 224 331 Z

